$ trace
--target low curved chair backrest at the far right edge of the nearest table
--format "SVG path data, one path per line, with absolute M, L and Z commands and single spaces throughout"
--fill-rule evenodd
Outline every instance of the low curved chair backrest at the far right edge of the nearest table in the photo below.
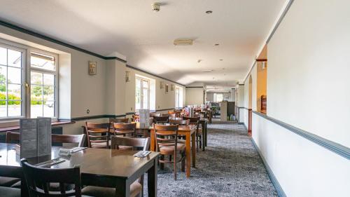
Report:
M 148 151 L 150 148 L 150 138 L 146 137 L 111 137 L 111 149 L 119 149 L 119 146 L 132 147 L 132 149 L 142 149 Z

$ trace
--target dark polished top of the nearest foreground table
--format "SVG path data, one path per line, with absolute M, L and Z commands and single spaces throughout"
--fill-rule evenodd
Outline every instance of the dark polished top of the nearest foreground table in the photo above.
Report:
M 1 166 L 20 167 L 20 156 L 15 153 L 14 148 L 15 144 L 0 143 L 0 168 Z M 51 156 L 29 158 L 28 161 L 31 164 L 36 164 L 57 158 L 59 148 L 62 147 L 52 147 Z M 80 172 L 82 174 L 106 175 L 127 179 L 159 155 L 156 152 L 152 152 L 145 158 L 137 158 L 134 157 L 135 153 L 137 151 L 85 149 L 69 157 L 61 156 L 66 161 L 51 168 L 67 168 L 80 165 Z

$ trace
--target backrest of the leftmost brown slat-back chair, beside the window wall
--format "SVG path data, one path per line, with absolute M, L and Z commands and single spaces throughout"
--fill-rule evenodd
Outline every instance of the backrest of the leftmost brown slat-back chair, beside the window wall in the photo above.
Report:
M 87 123 L 85 122 L 85 135 L 87 146 L 91 148 L 91 142 L 109 142 L 109 130 L 111 123 Z

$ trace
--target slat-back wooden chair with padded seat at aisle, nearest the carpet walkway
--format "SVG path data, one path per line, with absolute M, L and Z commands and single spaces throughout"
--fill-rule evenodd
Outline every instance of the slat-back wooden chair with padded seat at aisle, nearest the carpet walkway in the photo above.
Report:
M 174 179 L 177 177 L 176 163 L 181 162 L 181 171 L 185 172 L 186 144 L 178 143 L 179 125 L 153 125 L 153 135 L 155 136 L 156 151 L 160 153 L 160 168 L 164 168 L 165 163 L 173 163 Z M 180 155 L 178 160 L 177 155 Z M 169 160 L 165 159 L 169 156 Z M 173 156 L 173 161 L 171 157 Z

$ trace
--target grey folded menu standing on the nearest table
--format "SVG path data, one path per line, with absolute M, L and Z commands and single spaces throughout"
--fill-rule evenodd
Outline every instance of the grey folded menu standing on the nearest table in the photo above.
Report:
M 20 119 L 20 158 L 51 154 L 51 118 Z

